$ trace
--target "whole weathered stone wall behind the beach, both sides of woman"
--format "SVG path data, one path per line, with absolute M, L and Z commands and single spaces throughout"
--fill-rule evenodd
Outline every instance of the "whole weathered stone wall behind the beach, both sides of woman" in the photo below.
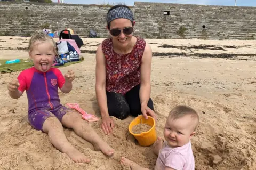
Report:
M 107 37 L 109 6 L 0 2 L 0 34 L 30 36 L 35 30 L 73 28 Z M 256 7 L 135 2 L 135 35 L 144 38 L 254 39 Z M 203 29 L 205 26 L 205 29 Z

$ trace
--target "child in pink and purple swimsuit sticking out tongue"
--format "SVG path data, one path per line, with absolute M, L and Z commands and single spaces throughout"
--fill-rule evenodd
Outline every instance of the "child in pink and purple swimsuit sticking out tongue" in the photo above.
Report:
M 60 104 L 58 87 L 61 92 L 69 93 L 75 73 L 69 70 L 63 76 L 59 69 L 51 67 L 56 54 L 53 39 L 43 32 L 35 33 L 30 38 L 28 48 L 34 67 L 23 70 L 18 79 L 11 80 L 8 90 L 13 99 L 20 98 L 26 90 L 30 125 L 47 133 L 54 147 L 66 153 L 76 163 L 89 163 L 90 160 L 68 142 L 62 125 L 91 142 L 95 150 L 101 150 L 108 156 L 113 155 L 114 150 L 93 131 L 78 112 Z

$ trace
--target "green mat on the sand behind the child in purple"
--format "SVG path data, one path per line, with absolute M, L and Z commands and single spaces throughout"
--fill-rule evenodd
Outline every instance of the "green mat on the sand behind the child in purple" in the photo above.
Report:
M 19 63 L 12 63 L 12 64 L 5 64 L 6 61 L 8 60 L 0 60 L 0 72 L 2 74 L 22 71 L 33 66 L 33 62 L 31 60 L 20 59 Z M 63 66 L 53 66 L 53 67 L 66 67 L 71 64 L 75 64 L 79 62 L 81 61 L 68 62 L 68 63 L 65 63 Z

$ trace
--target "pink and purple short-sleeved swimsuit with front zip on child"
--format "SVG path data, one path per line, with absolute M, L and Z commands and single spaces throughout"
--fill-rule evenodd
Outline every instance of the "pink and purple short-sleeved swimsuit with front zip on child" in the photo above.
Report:
M 28 120 L 30 125 L 42 130 L 44 121 L 52 116 L 60 122 L 70 109 L 60 104 L 58 87 L 62 88 L 65 78 L 57 68 L 41 72 L 34 67 L 23 70 L 18 76 L 19 91 L 26 90 L 28 97 Z

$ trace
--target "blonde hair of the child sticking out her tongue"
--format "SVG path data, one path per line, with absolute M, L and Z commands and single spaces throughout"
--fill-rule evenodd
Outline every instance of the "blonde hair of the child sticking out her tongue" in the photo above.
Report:
M 43 31 L 38 31 L 31 36 L 31 38 L 29 39 L 29 43 L 28 43 L 28 50 L 32 51 L 35 43 L 38 41 L 52 42 L 54 52 L 56 53 L 56 44 L 54 43 L 53 38 L 50 37 L 49 35 L 46 35 Z

